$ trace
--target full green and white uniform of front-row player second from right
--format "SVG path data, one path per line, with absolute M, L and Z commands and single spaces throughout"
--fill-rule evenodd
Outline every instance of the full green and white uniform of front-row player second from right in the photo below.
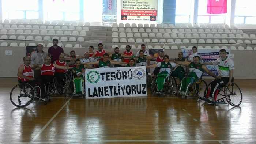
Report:
M 189 83 L 194 83 L 196 79 L 201 78 L 204 70 L 202 69 L 202 65 L 195 64 L 194 62 L 191 62 L 189 65 L 189 73 L 188 77 L 185 79 L 182 79 L 181 81 L 181 91 L 185 92 L 186 88 L 188 87 Z

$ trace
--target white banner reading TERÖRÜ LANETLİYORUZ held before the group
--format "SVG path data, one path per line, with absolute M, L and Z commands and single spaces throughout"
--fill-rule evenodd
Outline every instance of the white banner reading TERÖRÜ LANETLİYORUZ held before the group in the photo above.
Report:
M 86 99 L 147 96 L 146 67 L 86 69 Z

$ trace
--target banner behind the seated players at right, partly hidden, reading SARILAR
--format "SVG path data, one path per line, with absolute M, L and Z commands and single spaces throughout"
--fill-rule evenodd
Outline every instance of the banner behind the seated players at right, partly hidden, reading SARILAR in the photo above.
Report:
M 202 57 L 202 62 L 211 62 L 219 58 L 220 49 L 198 49 L 198 54 Z M 193 54 L 192 49 L 181 49 L 183 57 L 189 60 L 189 56 Z M 226 49 L 227 56 L 229 57 L 230 49 Z M 206 67 L 213 72 L 215 75 L 218 75 L 217 68 L 218 65 L 206 65 Z M 203 73 L 203 76 L 209 76 L 207 73 Z

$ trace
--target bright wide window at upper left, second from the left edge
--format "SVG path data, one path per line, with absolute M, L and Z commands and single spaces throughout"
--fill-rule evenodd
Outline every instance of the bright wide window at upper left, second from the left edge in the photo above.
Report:
M 80 20 L 80 0 L 44 0 L 46 20 Z

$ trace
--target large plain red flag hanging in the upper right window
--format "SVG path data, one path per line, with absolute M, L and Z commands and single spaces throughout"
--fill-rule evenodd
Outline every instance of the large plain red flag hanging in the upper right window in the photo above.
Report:
M 227 13 L 227 0 L 208 0 L 208 14 L 224 14 Z

